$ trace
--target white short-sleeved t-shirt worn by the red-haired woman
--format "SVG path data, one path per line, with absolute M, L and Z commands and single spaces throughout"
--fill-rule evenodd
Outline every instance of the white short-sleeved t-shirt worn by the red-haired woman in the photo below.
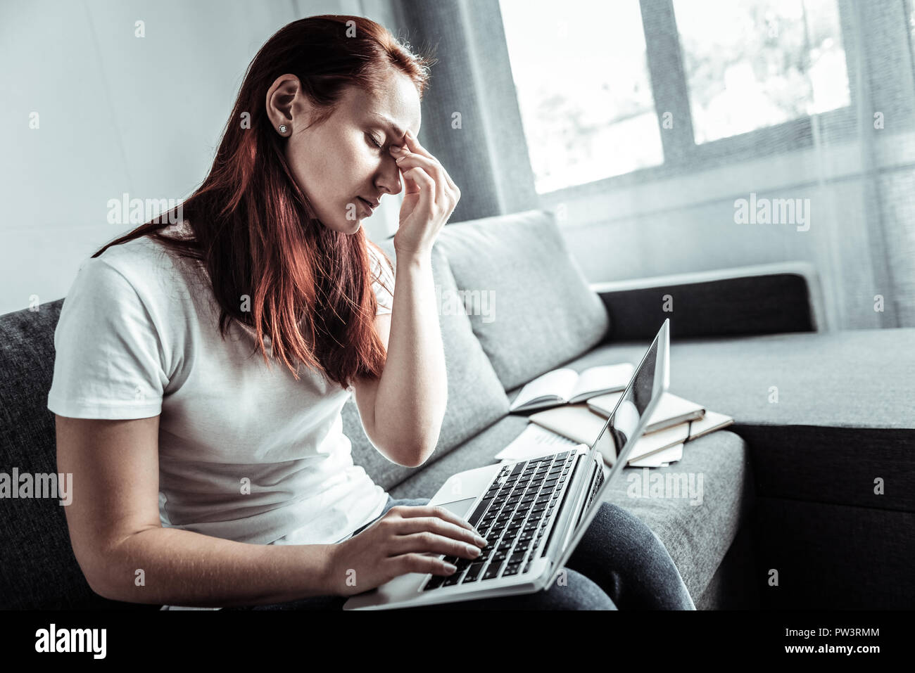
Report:
M 381 270 L 393 290 L 387 263 L 369 251 L 372 277 Z M 373 288 L 378 313 L 391 313 L 393 295 L 382 283 Z M 223 341 L 218 320 L 205 273 L 155 240 L 85 260 L 54 334 L 48 409 L 93 419 L 161 414 L 165 527 L 260 544 L 328 544 L 378 517 L 388 495 L 353 465 L 342 432 L 352 387 L 304 365 L 296 381 L 272 355 L 268 369 L 259 350 L 249 355 L 250 327 L 231 321 Z

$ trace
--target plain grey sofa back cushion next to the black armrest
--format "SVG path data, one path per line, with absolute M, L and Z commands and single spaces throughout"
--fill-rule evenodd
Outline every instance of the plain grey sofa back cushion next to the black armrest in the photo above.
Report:
M 607 310 L 552 213 L 451 224 L 436 248 L 447 253 L 458 288 L 478 293 L 469 295 L 481 300 L 468 310 L 470 325 L 505 390 L 587 352 L 607 333 Z

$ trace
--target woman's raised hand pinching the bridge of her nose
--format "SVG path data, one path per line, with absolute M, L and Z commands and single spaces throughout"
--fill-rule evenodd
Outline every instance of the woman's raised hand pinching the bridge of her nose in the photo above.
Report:
M 460 189 L 435 156 L 409 131 L 405 144 L 391 154 L 404 174 L 404 203 L 400 228 L 394 234 L 394 250 L 418 254 L 432 251 L 438 232 L 445 226 L 460 199 Z

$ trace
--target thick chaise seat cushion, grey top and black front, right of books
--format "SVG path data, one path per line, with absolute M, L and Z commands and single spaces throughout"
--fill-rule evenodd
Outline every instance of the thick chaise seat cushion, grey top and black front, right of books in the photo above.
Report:
M 760 496 L 913 512 L 912 343 L 912 328 L 674 339 L 670 390 L 735 419 Z M 600 346 L 565 366 L 638 362 L 645 347 Z

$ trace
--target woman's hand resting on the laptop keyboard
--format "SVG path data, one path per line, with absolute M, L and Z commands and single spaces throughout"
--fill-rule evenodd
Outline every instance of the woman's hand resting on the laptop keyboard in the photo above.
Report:
M 362 593 L 408 572 L 450 575 L 437 554 L 475 559 L 484 546 L 478 540 L 467 521 L 444 507 L 391 507 L 359 535 L 333 546 L 328 591 Z

